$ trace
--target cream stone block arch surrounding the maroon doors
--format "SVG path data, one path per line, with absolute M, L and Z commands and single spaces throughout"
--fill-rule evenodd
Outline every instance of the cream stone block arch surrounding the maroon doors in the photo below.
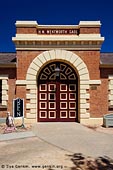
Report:
M 87 66 L 78 55 L 73 52 L 60 49 L 41 53 L 32 61 L 28 68 L 26 74 L 26 99 L 28 99 L 29 103 L 26 104 L 26 118 L 37 121 L 37 73 L 44 64 L 53 60 L 67 61 L 77 70 L 80 80 L 79 121 L 82 122 L 82 119 L 89 119 L 89 103 L 87 103 L 89 93 L 87 90 L 89 89 L 90 78 Z

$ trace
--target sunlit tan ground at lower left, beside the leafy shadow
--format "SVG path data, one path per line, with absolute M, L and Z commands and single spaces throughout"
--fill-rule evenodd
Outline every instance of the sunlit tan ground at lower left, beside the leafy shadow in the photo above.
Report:
M 42 170 L 50 166 L 68 170 L 73 166 L 69 155 L 37 137 L 4 141 L 0 143 L 0 170 Z

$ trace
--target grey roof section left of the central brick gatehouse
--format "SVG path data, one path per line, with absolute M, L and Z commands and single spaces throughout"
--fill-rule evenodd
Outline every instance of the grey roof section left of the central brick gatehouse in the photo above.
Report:
M 16 53 L 0 53 L 0 64 L 11 64 L 16 62 Z

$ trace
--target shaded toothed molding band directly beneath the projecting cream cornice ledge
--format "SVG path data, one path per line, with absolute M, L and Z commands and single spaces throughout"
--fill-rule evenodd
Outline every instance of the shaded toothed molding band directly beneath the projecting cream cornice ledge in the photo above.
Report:
M 100 50 L 102 42 L 99 41 L 17 41 L 17 50 L 48 50 L 48 49 L 66 49 L 66 50 Z

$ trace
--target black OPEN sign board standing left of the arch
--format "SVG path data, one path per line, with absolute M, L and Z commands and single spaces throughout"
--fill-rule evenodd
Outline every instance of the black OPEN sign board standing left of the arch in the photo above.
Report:
M 14 117 L 24 117 L 24 100 L 17 98 L 13 100 Z

